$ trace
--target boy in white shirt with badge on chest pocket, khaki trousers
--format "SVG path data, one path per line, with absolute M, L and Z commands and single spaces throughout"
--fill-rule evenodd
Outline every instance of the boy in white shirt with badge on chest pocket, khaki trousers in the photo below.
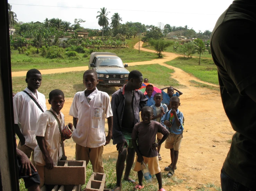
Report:
M 109 143 L 112 137 L 113 114 L 110 98 L 106 92 L 99 91 L 99 83 L 95 70 L 83 73 L 83 84 L 86 89 L 77 92 L 69 111 L 73 116 L 76 128 L 72 134 L 76 142 L 76 160 L 89 160 L 94 172 L 104 173 L 103 145 Z M 108 123 L 108 135 L 105 134 L 105 118 Z

